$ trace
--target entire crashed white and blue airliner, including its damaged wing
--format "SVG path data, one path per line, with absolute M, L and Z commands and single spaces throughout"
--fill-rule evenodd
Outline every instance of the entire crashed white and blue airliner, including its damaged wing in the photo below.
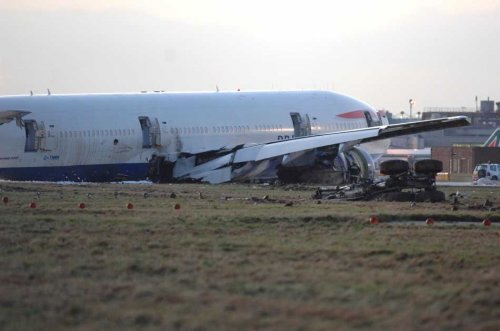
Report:
M 387 138 L 468 125 L 464 116 L 389 125 L 327 91 L 0 97 L 0 179 L 223 183 L 371 178 Z

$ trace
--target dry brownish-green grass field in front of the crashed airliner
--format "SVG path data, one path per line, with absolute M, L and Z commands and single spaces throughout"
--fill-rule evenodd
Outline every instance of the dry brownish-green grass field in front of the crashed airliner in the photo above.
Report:
M 500 329 L 500 212 L 467 208 L 500 188 L 460 188 L 457 211 L 300 187 L 0 189 L 0 330 Z

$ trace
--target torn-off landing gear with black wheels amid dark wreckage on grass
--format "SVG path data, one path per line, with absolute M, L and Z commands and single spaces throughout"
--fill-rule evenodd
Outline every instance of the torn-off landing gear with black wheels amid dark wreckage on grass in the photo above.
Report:
M 384 200 L 442 202 L 444 192 L 436 189 L 436 174 L 443 170 L 439 160 L 425 159 L 415 162 L 413 169 L 404 160 L 388 160 L 380 164 L 376 179 L 354 178 L 344 186 L 318 187 L 314 198 L 339 200 Z

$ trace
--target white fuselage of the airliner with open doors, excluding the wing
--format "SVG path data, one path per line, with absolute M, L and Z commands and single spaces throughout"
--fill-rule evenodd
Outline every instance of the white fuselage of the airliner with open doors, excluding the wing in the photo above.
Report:
M 113 180 L 113 171 L 141 179 L 152 155 L 175 162 L 180 155 L 386 124 L 369 105 L 321 91 L 13 96 L 0 97 L 2 110 L 30 112 L 22 125 L 0 126 L 4 179 L 93 180 L 85 166 L 96 174 L 111 167 L 109 178 L 99 173 L 97 180 Z M 58 171 L 65 175 L 58 178 Z

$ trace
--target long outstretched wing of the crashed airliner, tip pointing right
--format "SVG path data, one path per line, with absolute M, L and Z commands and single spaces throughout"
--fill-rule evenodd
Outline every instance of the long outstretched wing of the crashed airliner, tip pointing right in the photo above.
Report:
M 455 116 L 312 135 L 267 144 L 244 146 L 236 151 L 233 162 L 261 161 L 281 155 L 338 144 L 346 144 L 352 147 L 370 141 L 469 124 L 470 121 L 466 116 Z

